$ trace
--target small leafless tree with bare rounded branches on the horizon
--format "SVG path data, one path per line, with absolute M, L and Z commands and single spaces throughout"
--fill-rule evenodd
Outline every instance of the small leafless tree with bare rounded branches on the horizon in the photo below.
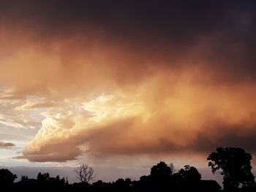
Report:
M 75 173 L 77 174 L 77 178 L 80 180 L 80 183 L 89 183 L 95 177 L 94 169 L 84 163 L 78 164 L 75 168 Z

